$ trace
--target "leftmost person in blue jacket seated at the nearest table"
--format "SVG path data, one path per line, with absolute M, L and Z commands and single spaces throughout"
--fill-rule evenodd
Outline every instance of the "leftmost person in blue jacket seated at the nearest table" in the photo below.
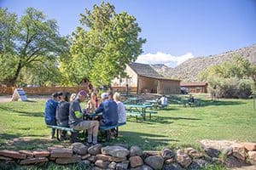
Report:
M 58 105 L 58 101 L 60 100 L 59 94 L 54 93 L 51 94 L 52 99 L 48 99 L 45 103 L 45 108 L 44 108 L 44 122 L 47 125 L 53 125 L 56 126 L 56 108 Z M 55 128 L 51 129 L 50 132 L 50 138 L 55 139 Z

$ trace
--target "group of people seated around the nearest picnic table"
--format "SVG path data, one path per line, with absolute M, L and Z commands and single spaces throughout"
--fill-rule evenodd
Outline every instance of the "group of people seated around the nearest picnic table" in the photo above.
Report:
M 75 96 L 75 97 L 73 97 Z M 79 94 L 54 93 L 52 99 L 47 100 L 44 110 L 44 121 L 47 125 L 58 125 L 61 127 L 72 127 L 75 130 L 87 130 L 87 143 L 97 144 L 97 134 L 100 125 L 116 125 L 126 122 L 125 105 L 120 101 L 120 94 L 112 92 L 103 93 L 102 103 L 95 93 L 90 94 L 85 109 L 82 110 L 80 103 L 88 97 L 88 94 L 81 90 Z M 99 120 L 84 119 L 87 114 L 102 113 Z M 65 137 L 66 132 L 61 132 Z M 51 131 L 51 138 L 55 137 L 55 129 Z

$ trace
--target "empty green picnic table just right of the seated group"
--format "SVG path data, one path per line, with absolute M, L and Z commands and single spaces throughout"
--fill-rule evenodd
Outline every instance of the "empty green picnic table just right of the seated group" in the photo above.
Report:
M 151 104 L 143 104 L 143 105 L 125 105 L 126 114 L 130 116 L 143 116 L 143 121 L 146 121 L 146 109 L 152 107 Z M 148 112 L 151 118 L 151 112 Z M 152 112 L 153 114 L 153 112 Z

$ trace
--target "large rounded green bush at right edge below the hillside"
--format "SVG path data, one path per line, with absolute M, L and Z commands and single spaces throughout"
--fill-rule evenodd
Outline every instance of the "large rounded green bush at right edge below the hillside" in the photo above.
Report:
M 201 71 L 199 79 L 207 81 L 210 90 L 216 90 L 219 97 L 247 98 L 255 89 L 255 75 L 256 65 L 247 59 L 234 56 L 230 61 Z

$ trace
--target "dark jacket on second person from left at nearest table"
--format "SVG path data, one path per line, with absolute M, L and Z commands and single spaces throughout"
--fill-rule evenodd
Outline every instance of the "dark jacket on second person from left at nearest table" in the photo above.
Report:
M 57 106 L 56 120 L 58 126 L 68 126 L 69 105 L 70 104 L 67 101 L 61 101 Z

